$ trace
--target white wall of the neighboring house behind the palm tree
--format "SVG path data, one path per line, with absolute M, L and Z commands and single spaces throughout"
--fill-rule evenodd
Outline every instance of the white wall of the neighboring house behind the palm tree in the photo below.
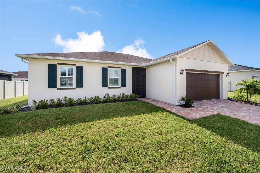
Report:
M 230 85 L 228 85 L 229 87 L 229 91 L 235 91 L 237 88 L 241 88 L 243 87 L 242 85 L 237 85 L 237 82 L 240 82 L 245 79 L 252 78 L 253 76 L 255 76 L 255 79 L 260 80 L 260 71 L 256 71 L 256 70 L 250 70 L 250 71 L 229 71 L 229 81 L 230 81 Z

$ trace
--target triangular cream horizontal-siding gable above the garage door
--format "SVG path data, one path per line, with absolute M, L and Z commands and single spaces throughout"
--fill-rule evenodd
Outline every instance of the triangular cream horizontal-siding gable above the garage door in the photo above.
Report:
M 180 57 L 227 64 L 208 44 L 205 44 L 197 49 L 187 52 L 186 54 L 181 55 Z

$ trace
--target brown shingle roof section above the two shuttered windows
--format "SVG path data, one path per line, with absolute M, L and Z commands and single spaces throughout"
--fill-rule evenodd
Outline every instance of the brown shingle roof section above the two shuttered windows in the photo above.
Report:
M 75 58 L 75 59 L 123 62 L 123 63 L 134 63 L 134 64 L 143 64 L 151 61 L 151 59 L 148 58 L 143 58 L 143 57 L 128 55 L 128 54 L 115 53 L 115 52 L 70 52 L 70 53 L 23 54 L 23 55 Z

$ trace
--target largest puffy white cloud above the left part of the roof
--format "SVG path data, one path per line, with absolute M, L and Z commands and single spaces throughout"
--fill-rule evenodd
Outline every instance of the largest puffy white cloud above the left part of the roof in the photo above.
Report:
M 59 34 L 52 41 L 64 47 L 64 52 L 97 52 L 102 51 L 105 46 L 104 37 L 100 31 L 94 31 L 90 35 L 85 31 L 77 32 L 77 35 L 79 38 L 63 40 Z

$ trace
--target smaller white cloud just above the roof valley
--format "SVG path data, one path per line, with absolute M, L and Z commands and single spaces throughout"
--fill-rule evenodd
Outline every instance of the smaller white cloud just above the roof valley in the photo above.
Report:
M 129 55 L 154 59 L 154 57 L 151 54 L 148 54 L 147 50 L 144 48 L 144 43 L 145 41 L 141 39 L 135 40 L 133 44 L 126 45 L 125 47 L 118 50 L 117 52 L 122 54 L 129 54 Z

